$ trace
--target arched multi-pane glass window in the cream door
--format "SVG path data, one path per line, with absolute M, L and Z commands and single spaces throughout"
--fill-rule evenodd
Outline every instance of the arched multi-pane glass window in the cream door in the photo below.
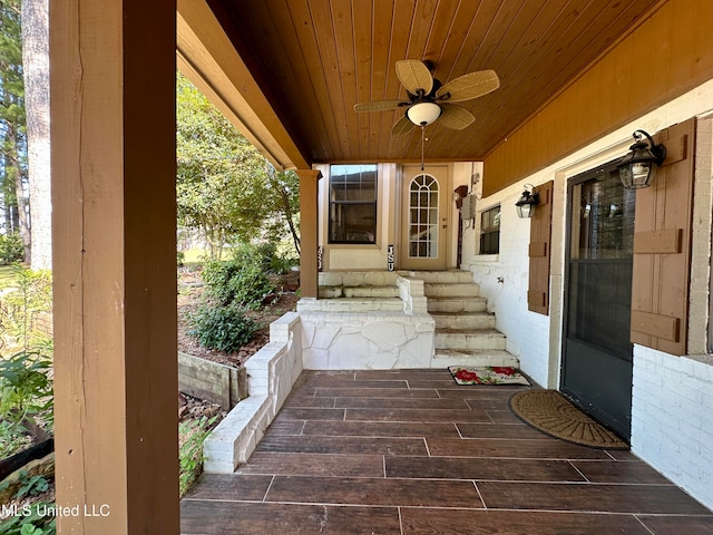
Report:
M 409 187 L 409 257 L 438 257 L 438 181 L 418 175 Z

